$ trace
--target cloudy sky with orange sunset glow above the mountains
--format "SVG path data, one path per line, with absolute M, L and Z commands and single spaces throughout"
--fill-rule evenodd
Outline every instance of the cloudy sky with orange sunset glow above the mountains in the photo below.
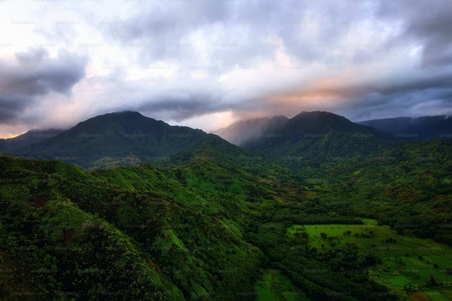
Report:
M 0 0 L 0 138 L 134 110 L 204 131 L 452 113 L 450 0 Z

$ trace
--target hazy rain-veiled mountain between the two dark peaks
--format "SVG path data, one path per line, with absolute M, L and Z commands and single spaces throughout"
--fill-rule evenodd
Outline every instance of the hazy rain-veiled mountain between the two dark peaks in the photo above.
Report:
M 258 136 L 268 131 L 277 131 L 289 119 L 285 116 L 263 117 L 257 119 L 241 120 L 234 122 L 224 129 L 214 131 L 221 138 L 236 146 L 242 146 L 255 141 Z

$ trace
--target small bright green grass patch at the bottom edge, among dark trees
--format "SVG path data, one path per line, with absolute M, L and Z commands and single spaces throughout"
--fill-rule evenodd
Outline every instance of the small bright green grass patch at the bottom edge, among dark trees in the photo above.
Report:
M 254 290 L 256 301 L 310 300 L 290 282 L 289 278 L 275 270 L 265 271 L 262 278 L 254 284 Z

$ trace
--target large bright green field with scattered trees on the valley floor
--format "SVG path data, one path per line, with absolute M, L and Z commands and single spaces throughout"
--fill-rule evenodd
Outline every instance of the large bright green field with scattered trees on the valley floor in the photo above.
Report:
M 319 252 L 340 249 L 347 242 L 355 243 L 361 252 L 376 254 L 382 264 L 372 269 L 372 278 L 399 290 L 421 290 L 452 285 L 452 248 L 432 240 L 409 235 L 398 235 L 388 226 L 377 225 L 376 220 L 362 219 L 364 225 L 292 225 L 287 237 L 297 242 L 308 237 L 309 247 Z M 297 234 L 298 233 L 298 234 Z M 415 295 L 425 300 L 444 299 L 451 290 L 425 290 Z

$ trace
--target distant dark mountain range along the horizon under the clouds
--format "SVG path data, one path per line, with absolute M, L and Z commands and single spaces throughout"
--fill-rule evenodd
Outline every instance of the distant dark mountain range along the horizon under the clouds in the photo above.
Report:
M 318 166 L 368 155 L 398 141 L 452 138 L 451 133 L 452 119 L 445 116 L 354 123 L 330 112 L 302 112 L 291 119 L 240 121 L 206 134 L 127 111 L 93 117 L 67 131 L 32 130 L 2 139 L 0 152 L 95 169 L 177 160 L 200 146 L 227 149 L 229 155 L 234 154 L 230 158 L 243 156 L 244 151 L 233 143 L 282 165 Z

